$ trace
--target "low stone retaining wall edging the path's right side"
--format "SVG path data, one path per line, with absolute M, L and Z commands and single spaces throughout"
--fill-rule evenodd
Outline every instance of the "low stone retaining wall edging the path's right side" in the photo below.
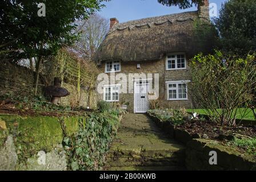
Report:
M 147 115 L 167 136 L 186 146 L 185 165 L 188 170 L 256 170 L 255 155 L 242 154 L 234 147 L 225 146 L 222 141 L 192 135 L 170 122 L 162 122 L 149 113 Z M 217 164 L 209 163 L 210 151 L 216 152 Z

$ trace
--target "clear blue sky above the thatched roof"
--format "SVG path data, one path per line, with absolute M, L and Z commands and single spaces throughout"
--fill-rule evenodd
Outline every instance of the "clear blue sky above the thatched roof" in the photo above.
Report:
M 216 3 L 219 10 L 225 1 L 227 0 L 210 0 L 210 3 Z M 105 5 L 106 7 L 99 14 L 107 19 L 117 18 L 121 23 L 134 19 L 197 10 L 196 7 L 186 10 L 180 10 L 175 6 L 167 7 L 158 3 L 157 0 L 111 0 Z

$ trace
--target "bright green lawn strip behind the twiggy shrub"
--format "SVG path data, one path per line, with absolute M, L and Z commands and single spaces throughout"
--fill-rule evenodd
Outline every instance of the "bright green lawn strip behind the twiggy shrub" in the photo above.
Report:
M 187 109 L 189 112 L 196 112 L 198 114 L 207 114 L 205 109 Z M 251 109 L 238 109 L 237 111 L 237 118 L 241 119 L 241 116 L 245 113 L 245 117 L 243 119 L 248 119 L 248 120 L 255 120 L 253 111 Z

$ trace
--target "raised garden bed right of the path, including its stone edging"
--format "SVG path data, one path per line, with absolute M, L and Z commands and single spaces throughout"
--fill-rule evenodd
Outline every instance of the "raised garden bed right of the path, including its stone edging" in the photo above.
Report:
M 255 170 L 256 128 L 252 126 L 220 126 L 211 121 L 167 119 L 164 115 L 149 111 L 147 115 L 161 127 L 169 137 L 186 144 L 186 167 L 196 170 Z M 173 113 L 172 113 L 173 114 Z M 175 114 L 173 114 L 175 115 Z M 190 117 L 191 118 L 191 117 Z M 164 119 L 166 119 L 164 121 Z M 178 122 L 177 122 L 178 119 Z M 187 119 L 185 121 L 185 119 Z M 209 165 L 209 151 L 217 151 L 220 164 Z M 234 161 L 230 163 L 229 161 Z

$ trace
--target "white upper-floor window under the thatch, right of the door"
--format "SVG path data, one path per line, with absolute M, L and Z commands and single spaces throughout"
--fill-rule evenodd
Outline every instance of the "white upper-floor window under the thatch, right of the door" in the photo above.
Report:
M 173 53 L 166 57 L 166 70 L 186 69 L 185 53 Z

